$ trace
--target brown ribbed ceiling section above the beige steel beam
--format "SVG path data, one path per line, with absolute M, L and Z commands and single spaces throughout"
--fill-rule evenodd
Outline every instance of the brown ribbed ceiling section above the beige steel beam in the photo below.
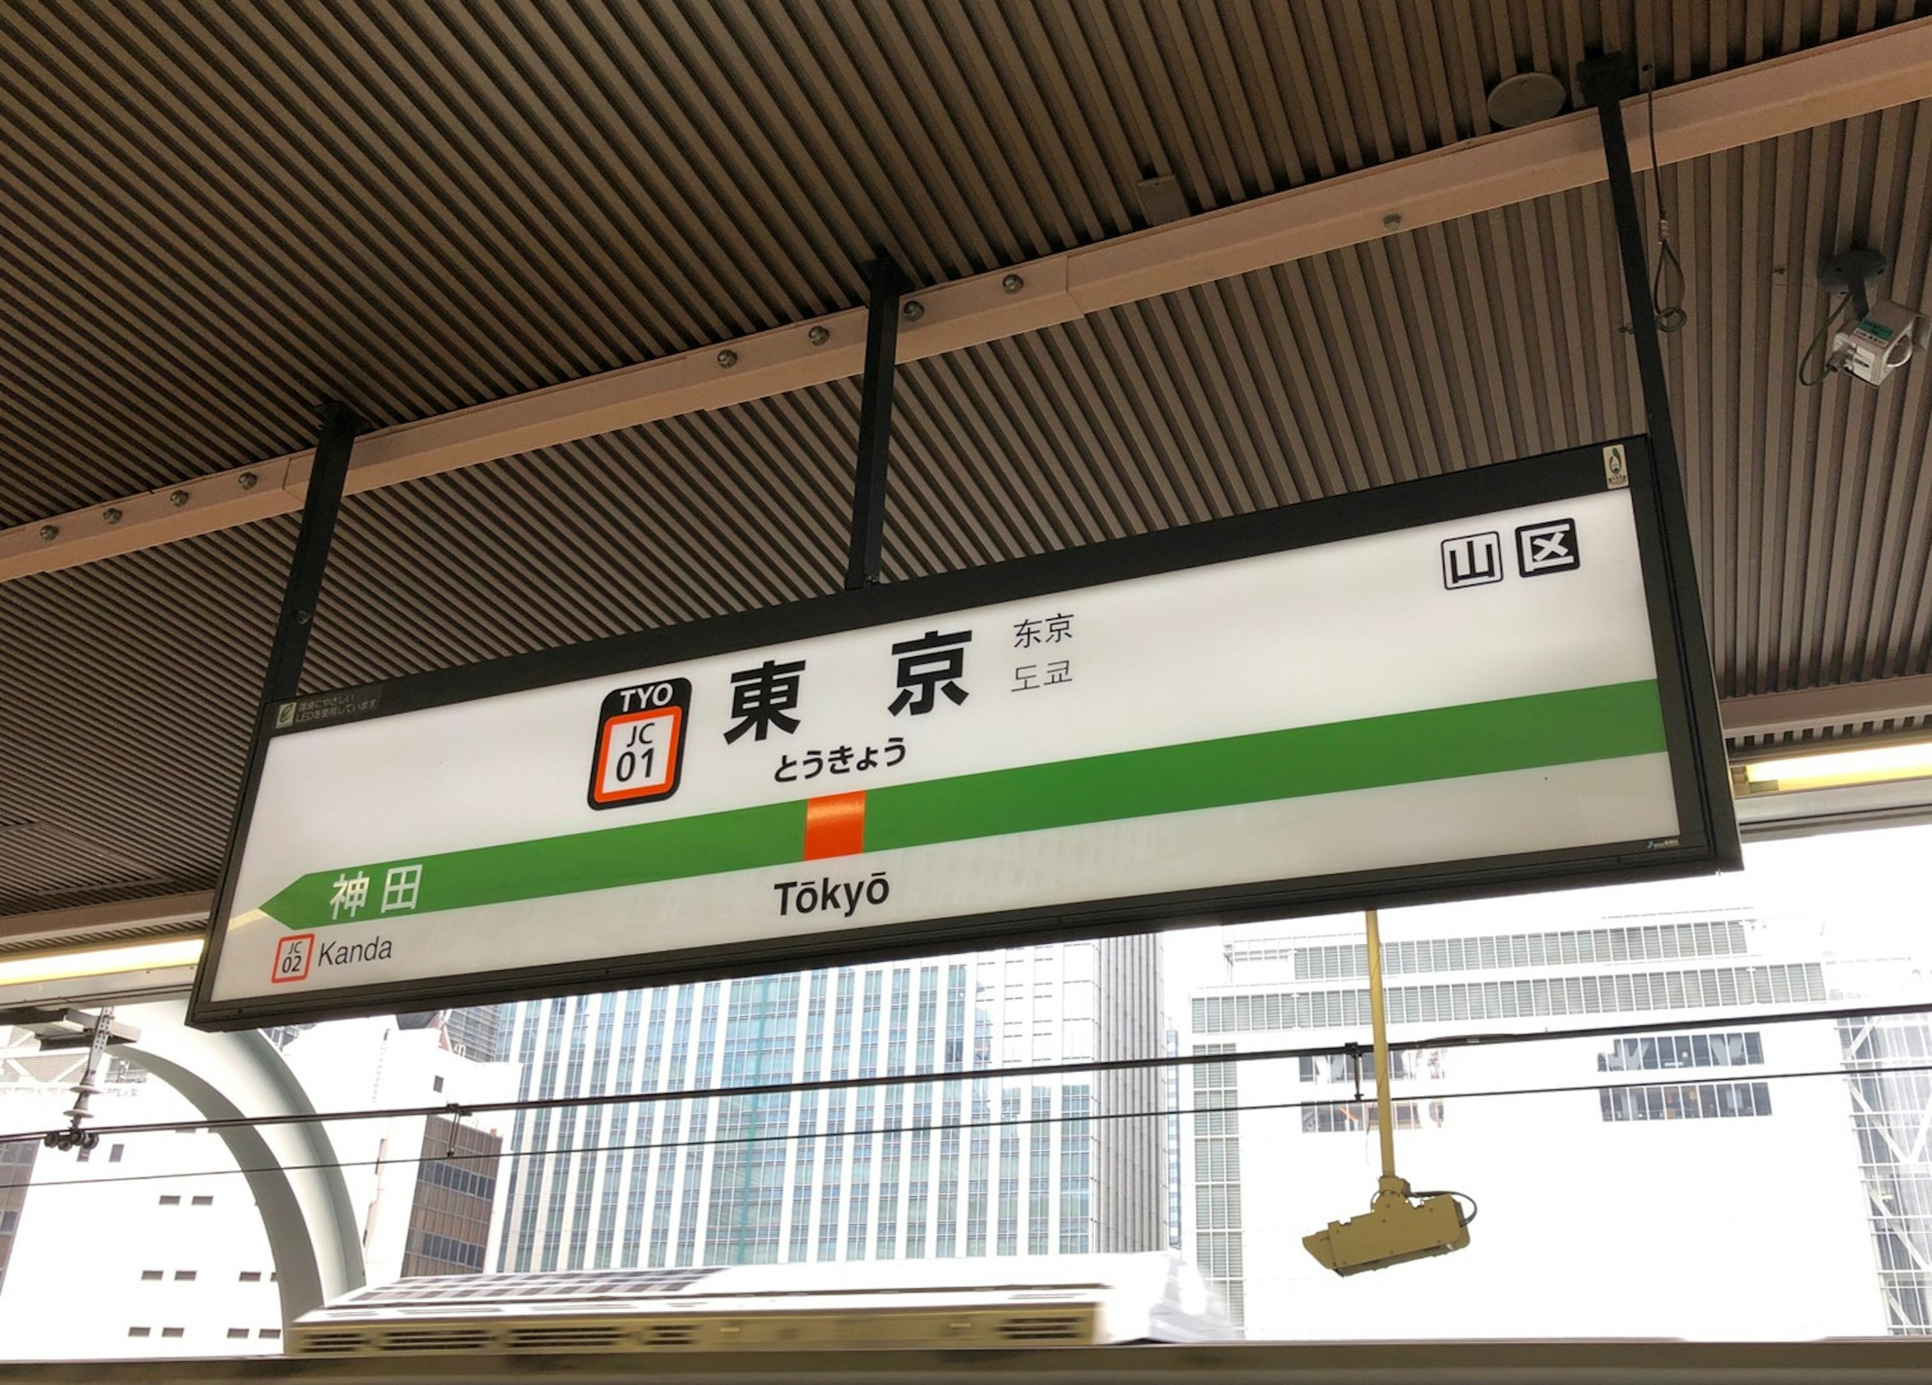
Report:
M 0 6 L 0 525 L 1667 85 L 1911 0 Z

